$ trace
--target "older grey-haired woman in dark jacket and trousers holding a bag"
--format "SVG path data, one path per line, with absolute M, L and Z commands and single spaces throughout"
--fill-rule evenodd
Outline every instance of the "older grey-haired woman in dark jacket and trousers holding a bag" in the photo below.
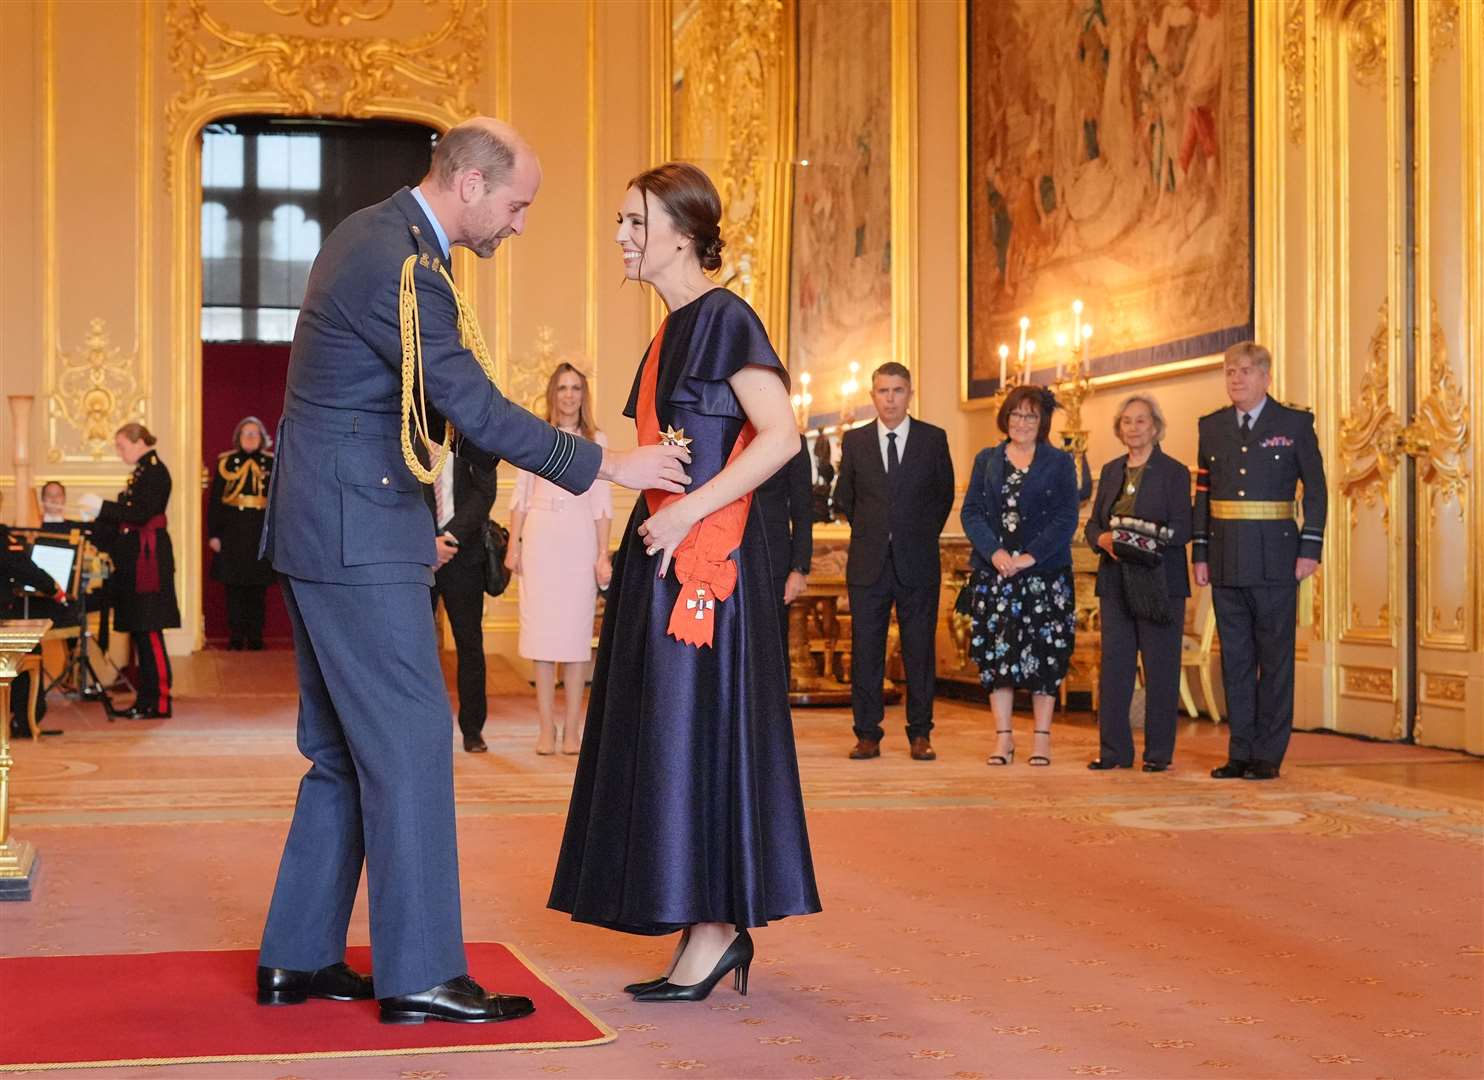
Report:
M 1103 672 L 1098 758 L 1088 768 L 1132 768 L 1128 706 L 1144 657 L 1144 771 L 1169 768 L 1175 752 L 1180 642 L 1190 579 L 1190 470 L 1159 448 L 1165 417 L 1143 393 L 1125 398 L 1113 432 L 1128 452 L 1103 466 L 1086 539 L 1098 552 Z

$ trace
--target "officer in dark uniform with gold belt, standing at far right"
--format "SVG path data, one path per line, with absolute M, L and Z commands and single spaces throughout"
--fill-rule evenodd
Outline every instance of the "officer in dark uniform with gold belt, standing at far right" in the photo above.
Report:
M 1201 417 L 1190 552 L 1196 585 L 1211 586 L 1232 725 L 1211 776 L 1272 780 L 1293 733 L 1298 583 L 1319 568 L 1328 497 L 1313 414 L 1267 396 L 1267 349 L 1235 344 L 1224 368 L 1232 404 Z

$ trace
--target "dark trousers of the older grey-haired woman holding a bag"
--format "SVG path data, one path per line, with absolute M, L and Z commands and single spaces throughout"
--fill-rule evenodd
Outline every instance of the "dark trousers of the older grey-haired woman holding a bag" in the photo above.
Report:
M 1144 657 L 1144 761 L 1169 764 L 1175 755 L 1175 720 L 1180 708 L 1180 639 L 1186 598 L 1169 598 L 1169 623 L 1135 619 L 1113 587 L 1098 598 L 1103 625 L 1103 669 L 1098 674 L 1098 757 L 1120 765 L 1134 764 L 1134 733 L 1128 703 L 1134 674 Z

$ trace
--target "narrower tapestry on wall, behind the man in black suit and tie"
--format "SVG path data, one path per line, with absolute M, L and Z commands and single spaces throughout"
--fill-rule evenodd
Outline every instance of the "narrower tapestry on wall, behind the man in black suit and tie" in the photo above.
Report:
M 810 423 L 868 409 L 892 356 L 892 27 L 868 0 L 798 1 L 788 369 Z M 803 162 L 807 162 L 804 165 Z M 856 363 L 855 386 L 850 363 Z

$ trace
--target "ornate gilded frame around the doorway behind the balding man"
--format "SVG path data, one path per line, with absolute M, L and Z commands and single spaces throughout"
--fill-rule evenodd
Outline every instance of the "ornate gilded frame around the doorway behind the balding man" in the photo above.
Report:
M 503 25 L 508 0 L 496 0 L 496 18 Z M 481 80 L 488 25 L 487 0 L 448 0 L 447 18 L 421 36 L 328 37 L 248 33 L 229 27 L 209 9 L 208 0 L 174 0 L 165 9 L 166 33 L 172 40 L 171 61 L 178 89 L 169 99 L 165 135 L 165 184 L 171 200 L 171 331 L 174 427 L 180 432 L 178 485 L 187 497 L 177 501 L 172 516 L 180 522 L 177 564 L 181 570 L 181 622 L 191 650 L 203 645 L 203 568 L 199 543 L 202 530 L 197 482 L 202 475 L 202 266 L 200 266 L 200 131 L 224 116 L 338 116 L 356 120 L 411 120 L 439 132 L 448 131 L 476 110 L 472 93 Z M 313 7 L 304 18 L 313 22 Z M 390 10 L 390 6 L 387 7 Z M 387 10 L 374 18 L 384 18 Z M 502 71 L 508 34 L 496 34 L 496 62 Z M 395 70 L 404 95 L 381 89 L 368 73 Z M 411 90 L 429 89 L 427 98 Z M 505 80 L 496 80 L 496 111 L 509 99 Z M 436 99 L 433 95 L 438 95 Z M 460 255 L 467 260 L 469 255 Z M 460 266 L 463 289 L 475 303 L 476 276 Z M 508 279 L 508 274 L 500 274 Z M 497 285 L 496 301 L 508 289 Z M 499 326 L 508 319 L 497 317 Z M 497 341 L 497 363 L 506 363 L 508 343 Z

